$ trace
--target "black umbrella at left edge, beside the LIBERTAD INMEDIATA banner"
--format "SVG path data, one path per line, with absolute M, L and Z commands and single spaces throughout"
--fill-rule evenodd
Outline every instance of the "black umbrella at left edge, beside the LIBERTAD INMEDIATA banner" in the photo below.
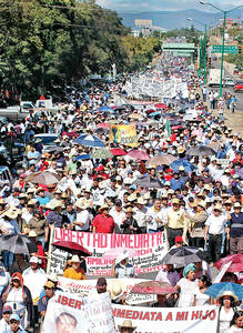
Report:
M 0 236 L 0 250 L 12 253 L 31 254 L 38 252 L 36 243 L 26 235 L 7 234 Z

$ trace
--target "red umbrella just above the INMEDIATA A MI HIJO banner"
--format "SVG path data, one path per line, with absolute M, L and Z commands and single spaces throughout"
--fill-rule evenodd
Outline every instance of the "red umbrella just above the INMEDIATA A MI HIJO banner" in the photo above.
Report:
M 135 284 L 132 287 L 131 293 L 166 295 L 170 293 L 176 293 L 176 290 L 168 282 L 144 281 Z

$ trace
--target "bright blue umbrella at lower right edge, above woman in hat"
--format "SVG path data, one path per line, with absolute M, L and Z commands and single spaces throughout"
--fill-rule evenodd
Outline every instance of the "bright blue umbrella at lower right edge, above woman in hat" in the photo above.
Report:
M 213 299 L 217 299 L 223 295 L 225 291 L 231 291 L 240 301 L 243 300 L 243 286 L 233 282 L 213 283 L 206 289 L 205 294 Z

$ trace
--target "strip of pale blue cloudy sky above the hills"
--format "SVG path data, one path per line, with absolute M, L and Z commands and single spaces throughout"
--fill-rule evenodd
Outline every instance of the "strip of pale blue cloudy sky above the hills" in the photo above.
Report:
M 222 9 L 231 9 L 232 7 L 242 4 L 242 0 L 210 0 L 210 2 Z M 201 4 L 199 0 L 97 0 L 97 3 L 104 8 L 125 12 L 182 10 L 192 8 L 205 11 L 210 8 Z

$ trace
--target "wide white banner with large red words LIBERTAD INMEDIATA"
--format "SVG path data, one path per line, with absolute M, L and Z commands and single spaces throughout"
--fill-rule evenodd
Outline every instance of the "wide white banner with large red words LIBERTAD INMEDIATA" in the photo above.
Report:
M 88 275 L 111 275 L 113 260 L 102 258 L 108 250 L 117 248 L 136 250 L 138 256 L 132 256 L 129 259 L 129 262 L 135 268 L 136 274 L 158 272 L 162 268 L 162 259 L 168 250 L 165 233 L 163 232 L 150 234 L 107 234 L 77 232 L 55 228 L 53 233 L 53 242 L 55 241 L 71 241 L 89 250 L 91 256 L 85 259 Z M 61 265 L 64 262 L 64 255 L 63 252 L 61 253 L 62 258 L 59 259 L 60 250 L 52 246 L 50 272 L 63 270 L 63 266 L 61 268 Z M 52 256 L 54 256 L 54 260 L 52 260 Z M 54 263 L 53 269 L 52 263 Z M 61 274 L 62 272 L 59 273 Z

